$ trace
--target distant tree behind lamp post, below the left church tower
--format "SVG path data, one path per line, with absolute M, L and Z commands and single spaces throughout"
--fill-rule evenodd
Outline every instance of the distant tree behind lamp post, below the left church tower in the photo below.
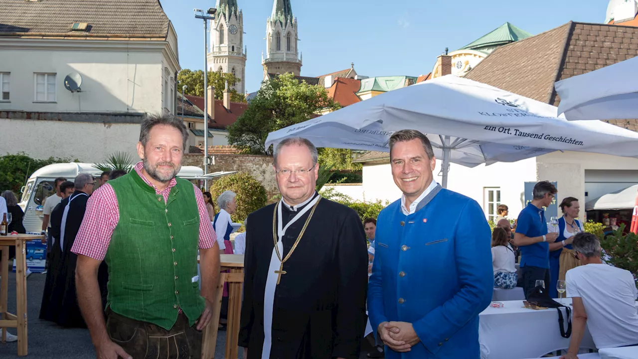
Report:
M 215 99 L 224 99 L 224 89 L 226 88 L 226 81 L 228 81 L 228 87 L 234 86 L 237 82 L 241 82 L 241 79 L 235 77 L 232 73 L 225 72 L 208 72 L 208 84 L 215 88 Z M 181 86 L 188 86 L 184 91 L 184 95 L 204 96 L 204 71 L 202 70 L 189 70 L 188 68 L 182 69 L 177 74 L 177 80 L 179 80 L 178 90 L 181 91 Z M 246 97 L 242 93 L 238 93 L 236 89 L 230 88 L 230 100 L 232 102 L 246 102 Z

